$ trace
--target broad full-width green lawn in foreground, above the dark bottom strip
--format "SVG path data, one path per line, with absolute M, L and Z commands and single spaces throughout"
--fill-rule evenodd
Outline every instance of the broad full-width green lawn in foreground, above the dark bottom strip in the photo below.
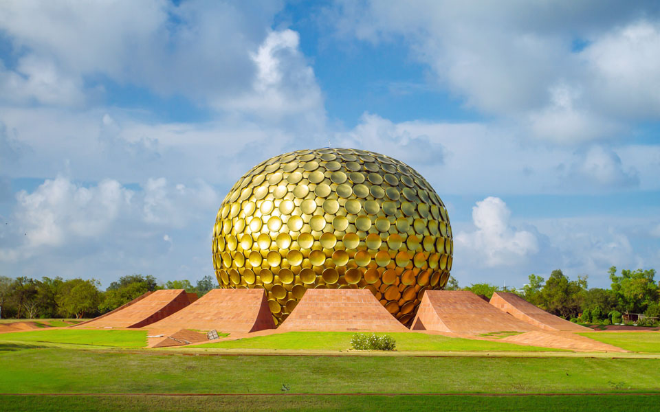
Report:
M 0 352 L 2 393 L 660 393 L 657 359 Z

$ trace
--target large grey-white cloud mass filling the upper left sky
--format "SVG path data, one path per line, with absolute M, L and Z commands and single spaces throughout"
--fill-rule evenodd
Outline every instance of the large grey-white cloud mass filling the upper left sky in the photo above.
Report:
M 221 111 L 322 117 L 298 33 L 269 30 L 280 8 L 272 1 L 10 1 L 0 30 L 18 63 L 0 66 L 0 92 L 6 102 L 76 106 L 109 81 Z

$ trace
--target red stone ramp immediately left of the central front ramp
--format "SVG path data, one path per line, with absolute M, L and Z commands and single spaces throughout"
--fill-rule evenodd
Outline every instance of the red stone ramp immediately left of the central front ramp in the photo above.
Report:
M 275 328 L 263 289 L 213 289 L 179 312 L 149 325 L 153 330 L 254 332 Z

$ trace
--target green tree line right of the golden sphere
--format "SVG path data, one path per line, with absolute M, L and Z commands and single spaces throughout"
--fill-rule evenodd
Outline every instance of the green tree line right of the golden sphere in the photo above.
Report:
M 655 281 L 654 269 L 624 269 L 617 274 L 612 266 L 608 275 L 610 288 L 588 288 L 587 276 L 570 279 L 561 270 L 552 271 L 546 280 L 529 275 L 522 288 L 500 288 L 492 284 L 471 284 L 461 288 L 456 279 L 450 277 L 450 290 L 470 290 L 476 295 L 490 299 L 493 293 L 507 291 L 520 295 L 529 303 L 564 319 L 580 323 L 621 323 L 623 314 L 644 314 L 646 321 L 655 325 L 660 317 L 660 285 Z M 652 318 L 656 318 L 655 320 Z M 639 323 L 638 323 L 639 324 Z

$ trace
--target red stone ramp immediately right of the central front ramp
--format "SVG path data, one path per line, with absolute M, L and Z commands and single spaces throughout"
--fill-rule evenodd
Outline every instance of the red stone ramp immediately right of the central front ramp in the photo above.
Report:
M 488 304 L 467 290 L 426 290 L 412 330 L 460 334 L 539 330 Z

